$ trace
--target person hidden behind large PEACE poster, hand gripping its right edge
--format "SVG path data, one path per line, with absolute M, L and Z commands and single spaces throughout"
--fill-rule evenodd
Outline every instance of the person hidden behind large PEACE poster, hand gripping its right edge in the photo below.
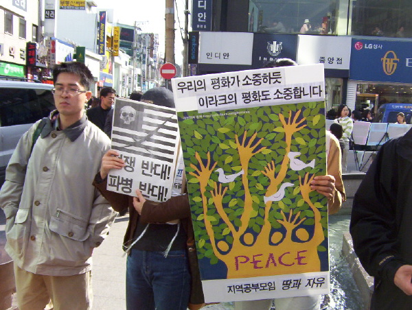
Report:
M 266 68 L 296 66 L 297 63 L 289 58 L 279 58 L 268 62 Z M 328 175 L 316 176 L 312 181 L 311 189 L 328 198 L 328 213 L 338 212 L 342 202 L 346 200 L 345 188 L 343 187 L 341 169 L 341 147 L 338 140 L 326 132 L 326 154 Z M 272 304 L 276 310 L 319 310 L 321 296 L 297 296 L 287 298 L 275 298 L 264 300 L 247 300 L 235 302 L 235 310 L 269 310 Z

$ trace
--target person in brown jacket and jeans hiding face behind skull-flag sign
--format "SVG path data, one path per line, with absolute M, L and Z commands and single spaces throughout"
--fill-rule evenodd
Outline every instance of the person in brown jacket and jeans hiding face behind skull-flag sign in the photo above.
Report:
M 141 101 L 174 107 L 172 92 L 163 87 L 150 89 Z M 124 167 L 118 156 L 115 150 L 103 156 L 94 184 L 116 211 L 130 214 L 124 236 L 126 309 L 200 309 L 204 297 L 187 195 L 159 204 L 146 201 L 139 191 L 138 198 L 108 191 L 108 172 Z

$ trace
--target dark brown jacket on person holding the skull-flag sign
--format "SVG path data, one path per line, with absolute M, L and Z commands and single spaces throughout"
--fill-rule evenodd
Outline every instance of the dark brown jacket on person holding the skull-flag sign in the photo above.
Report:
M 196 246 L 194 243 L 193 224 L 190 213 L 190 204 L 187 195 L 181 195 L 170 198 L 166 202 L 151 202 L 146 200 L 142 208 L 141 215 L 137 213 L 133 206 L 133 197 L 124 195 L 122 193 L 115 193 L 106 189 L 107 179 L 100 180 L 98 174 L 93 182 L 93 185 L 99 189 L 104 198 L 110 202 L 115 211 L 123 211 L 128 208 L 129 222 L 124 235 L 124 245 L 129 246 L 133 242 L 133 235 L 137 227 L 137 222 L 148 224 L 150 222 L 165 223 L 173 219 L 181 219 L 181 226 L 185 229 L 187 234 L 187 256 L 190 263 L 190 274 L 192 277 L 192 290 L 190 292 L 189 309 L 201 309 L 203 307 L 205 298 L 203 296 L 203 288 L 201 283 L 201 274 L 198 268 L 198 259 L 196 254 Z

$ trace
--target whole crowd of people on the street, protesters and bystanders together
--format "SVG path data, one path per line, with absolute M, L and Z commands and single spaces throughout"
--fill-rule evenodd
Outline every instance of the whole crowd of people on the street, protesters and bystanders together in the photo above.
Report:
M 293 65 L 281 59 L 266 67 Z M 104 133 L 111 131 L 116 92 L 102 88 L 99 100 L 91 101 L 98 104 L 85 112 L 93 83 L 89 69 L 62 62 L 53 76 L 56 110 L 23 134 L 0 191 L 19 309 L 43 310 L 50 300 L 55 310 L 91 309 L 91 256 L 108 235 L 115 211 L 129 212 L 123 245 L 128 253 L 126 308 L 201 309 L 205 300 L 187 193 L 155 203 L 138 189 L 137 197 L 108 191 L 109 171 L 125 165 Z M 166 88 L 133 93 L 130 99 L 174 108 Z M 353 122 L 359 120 L 371 121 L 370 111 L 354 112 L 351 118 L 349 108 L 339 106 L 332 134 L 326 133 L 327 174 L 310 183 L 312 191 L 328 198 L 330 214 L 345 200 L 342 167 Z M 404 123 L 402 113 L 398 123 Z M 409 143 L 411 133 L 385 144 L 355 196 L 350 226 L 355 250 L 376 276 L 371 309 L 412 305 L 412 191 L 411 183 L 404 182 L 411 178 Z M 268 310 L 273 302 L 277 310 L 318 310 L 320 296 L 236 302 L 235 309 Z

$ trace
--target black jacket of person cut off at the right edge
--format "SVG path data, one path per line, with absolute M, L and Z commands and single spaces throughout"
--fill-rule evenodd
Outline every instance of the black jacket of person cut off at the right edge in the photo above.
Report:
M 354 250 L 375 277 L 371 309 L 412 309 L 393 282 L 412 265 L 412 130 L 382 145 L 355 194 L 350 222 Z

